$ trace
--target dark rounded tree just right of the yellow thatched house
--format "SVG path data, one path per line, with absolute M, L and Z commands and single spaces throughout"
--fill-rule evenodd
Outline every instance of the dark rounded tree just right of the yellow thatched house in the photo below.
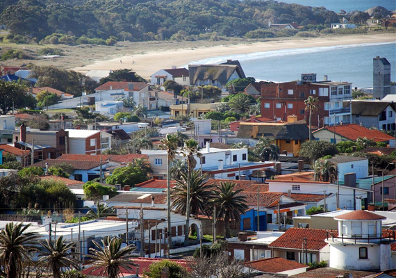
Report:
M 312 140 L 302 143 L 299 155 L 309 158 L 311 162 L 323 156 L 335 156 L 338 154 L 336 145 L 324 140 Z

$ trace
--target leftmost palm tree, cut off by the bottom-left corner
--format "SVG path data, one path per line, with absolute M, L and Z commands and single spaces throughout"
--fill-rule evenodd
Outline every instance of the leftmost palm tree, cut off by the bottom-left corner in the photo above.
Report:
M 10 222 L 0 231 L 0 263 L 7 278 L 19 277 L 24 265 L 31 263 L 29 252 L 37 250 L 37 240 L 41 236 L 26 231 L 29 227 L 31 224 Z

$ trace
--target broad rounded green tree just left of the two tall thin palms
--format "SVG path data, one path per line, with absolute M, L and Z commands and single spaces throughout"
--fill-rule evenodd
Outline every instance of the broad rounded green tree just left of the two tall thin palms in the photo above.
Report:
M 108 184 L 121 184 L 131 187 L 143 181 L 147 181 L 147 174 L 139 167 L 134 167 L 132 163 L 115 169 L 113 174 L 106 178 Z

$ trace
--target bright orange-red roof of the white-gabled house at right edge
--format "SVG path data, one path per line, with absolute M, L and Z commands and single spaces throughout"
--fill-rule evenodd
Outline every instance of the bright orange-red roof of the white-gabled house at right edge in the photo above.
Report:
M 393 139 L 393 136 L 385 134 L 377 129 L 366 129 L 364 126 L 358 124 L 343 124 L 340 126 L 325 126 L 322 129 L 327 129 L 331 133 L 336 133 L 338 136 L 342 136 L 352 141 L 356 141 L 359 137 L 366 137 L 374 140 L 375 142 L 385 142 Z M 313 131 L 313 134 L 321 131 Z

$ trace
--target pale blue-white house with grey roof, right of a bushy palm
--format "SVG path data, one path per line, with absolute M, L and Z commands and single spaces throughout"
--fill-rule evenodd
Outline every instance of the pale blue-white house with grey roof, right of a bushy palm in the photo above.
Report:
M 344 181 L 345 174 L 355 173 L 356 179 L 368 177 L 368 158 L 354 156 L 334 156 L 329 161 L 338 169 L 338 180 Z

